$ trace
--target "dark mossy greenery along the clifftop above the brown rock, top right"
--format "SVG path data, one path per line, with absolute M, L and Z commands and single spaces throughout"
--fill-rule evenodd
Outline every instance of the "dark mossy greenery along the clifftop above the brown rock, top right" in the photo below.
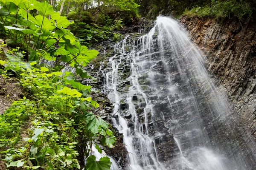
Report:
M 155 18 L 159 14 L 179 17 L 182 14 L 199 17 L 236 17 L 250 20 L 255 12 L 253 0 L 142 0 L 140 12 Z

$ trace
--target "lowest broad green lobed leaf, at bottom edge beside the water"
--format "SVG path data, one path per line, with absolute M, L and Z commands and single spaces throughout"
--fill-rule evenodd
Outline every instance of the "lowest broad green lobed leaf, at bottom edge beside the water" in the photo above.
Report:
M 111 161 L 107 156 L 96 161 L 96 157 L 91 155 L 86 160 L 86 170 L 110 170 Z

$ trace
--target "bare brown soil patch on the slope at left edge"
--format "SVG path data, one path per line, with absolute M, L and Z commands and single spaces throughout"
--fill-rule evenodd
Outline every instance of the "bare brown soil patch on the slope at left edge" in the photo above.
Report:
M 20 82 L 16 78 L 0 76 L 0 114 L 12 105 L 12 101 L 19 100 L 21 97 L 23 97 L 23 91 Z

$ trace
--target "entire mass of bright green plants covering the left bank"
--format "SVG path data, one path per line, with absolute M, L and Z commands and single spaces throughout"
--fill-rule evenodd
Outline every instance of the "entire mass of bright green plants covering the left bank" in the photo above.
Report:
M 6 42 L 19 46 L 6 53 L 5 61 L 0 60 L 5 70 L 0 72 L 3 77 L 15 74 L 29 92 L 29 99 L 13 102 L 0 115 L 1 156 L 7 167 L 14 169 L 80 169 L 78 157 L 84 155 L 79 148 L 92 142 L 113 147 L 116 142 L 108 123 L 94 114 L 99 104 L 90 97 L 91 86 L 76 81 L 78 75 L 95 80 L 82 67 L 98 51 L 81 45 L 66 29 L 70 21 L 46 2 L 0 0 L 0 3 L 3 6 L 0 16 L 10 38 Z M 39 15 L 28 13 L 33 9 Z M 55 61 L 54 68 L 39 64 L 41 59 Z M 61 61 L 65 64 L 60 66 Z M 76 75 L 61 72 L 67 65 L 76 68 Z M 88 150 L 85 156 L 89 156 L 90 148 L 84 150 Z M 104 170 L 110 169 L 108 158 L 92 160 L 87 167 L 96 164 Z

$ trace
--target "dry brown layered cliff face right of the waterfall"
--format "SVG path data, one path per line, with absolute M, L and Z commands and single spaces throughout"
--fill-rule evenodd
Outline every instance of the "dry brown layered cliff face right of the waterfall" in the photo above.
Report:
M 180 23 L 205 52 L 208 71 L 229 96 L 243 137 L 256 141 L 256 23 L 186 16 Z

